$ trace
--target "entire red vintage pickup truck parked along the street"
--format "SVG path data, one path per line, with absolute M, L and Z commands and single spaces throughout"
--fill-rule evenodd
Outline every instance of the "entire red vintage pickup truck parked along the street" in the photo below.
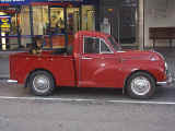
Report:
M 78 32 L 66 52 L 11 55 L 10 80 L 39 96 L 71 86 L 122 88 L 131 98 L 150 98 L 156 85 L 172 82 L 160 53 L 121 50 L 113 36 L 88 31 Z

